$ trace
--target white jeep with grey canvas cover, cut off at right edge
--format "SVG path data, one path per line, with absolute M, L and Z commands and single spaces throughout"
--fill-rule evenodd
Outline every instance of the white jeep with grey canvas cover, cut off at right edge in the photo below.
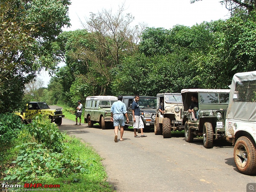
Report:
M 230 87 L 226 140 L 239 172 L 256 173 L 256 71 L 236 73 Z

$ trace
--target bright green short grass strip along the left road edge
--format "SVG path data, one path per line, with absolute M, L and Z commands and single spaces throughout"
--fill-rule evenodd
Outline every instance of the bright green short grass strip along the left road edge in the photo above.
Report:
M 39 183 L 59 184 L 60 191 L 63 192 L 114 191 L 113 187 L 106 182 L 107 173 L 101 164 L 102 158 L 89 144 L 83 143 L 79 139 L 65 134 L 64 145 L 72 151 L 72 156 L 74 158 L 80 158 L 88 161 L 90 164 L 88 167 L 89 173 L 69 174 L 64 178 L 47 177 L 45 179 L 38 180 Z

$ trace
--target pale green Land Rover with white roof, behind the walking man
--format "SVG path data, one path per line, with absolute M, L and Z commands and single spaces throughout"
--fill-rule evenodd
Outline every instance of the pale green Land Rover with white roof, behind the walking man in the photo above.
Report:
M 84 108 L 84 123 L 88 123 L 89 127 L 99 123 L 101 129 L 106 129 L 113 124 L 111 118 L 111 106 L 117 101 L 114 96 L 91 96 L 86 98 Z

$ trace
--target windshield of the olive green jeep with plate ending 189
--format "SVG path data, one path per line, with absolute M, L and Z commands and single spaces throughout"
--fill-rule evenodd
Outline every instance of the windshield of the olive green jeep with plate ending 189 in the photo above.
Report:
M 200 103 L 228 103 L 229 93 L 199 93 Z

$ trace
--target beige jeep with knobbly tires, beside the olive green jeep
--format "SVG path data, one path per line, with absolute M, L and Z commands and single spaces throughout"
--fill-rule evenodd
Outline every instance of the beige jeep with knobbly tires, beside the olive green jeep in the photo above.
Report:
M 180 93 L 158 93 L 156 119 L 155 119 L 155 135 L 162 135 L 164 138 L 171 137 L 171 131 L 182 131 L 182 99 Z M 164 114 L 161 114 L 159 107 L 164 107 Z

